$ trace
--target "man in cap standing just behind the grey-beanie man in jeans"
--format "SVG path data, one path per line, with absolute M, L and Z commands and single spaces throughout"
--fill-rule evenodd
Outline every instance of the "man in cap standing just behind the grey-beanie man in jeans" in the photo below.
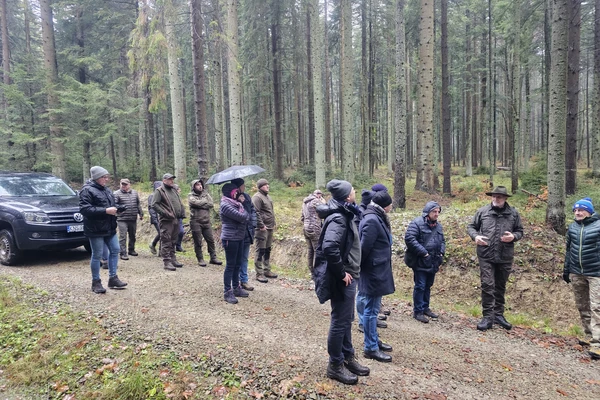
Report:
M 124 207 L 124 211 L 117 213 L 117 226 L 119 227 L 119 246 L 121 246 L 121 260 L 129 260 L 130 256 L 137 256 L 135 251 L 135 234 L 137 231 L 138 215 L 144 219 L 144 210 L 140 203 L 140 196 L 131 188 L 129 179 L 121 179 L 121 187 L 113 193 L 115 202 Z M 129 246 L 127 246 L 129 236 Z

